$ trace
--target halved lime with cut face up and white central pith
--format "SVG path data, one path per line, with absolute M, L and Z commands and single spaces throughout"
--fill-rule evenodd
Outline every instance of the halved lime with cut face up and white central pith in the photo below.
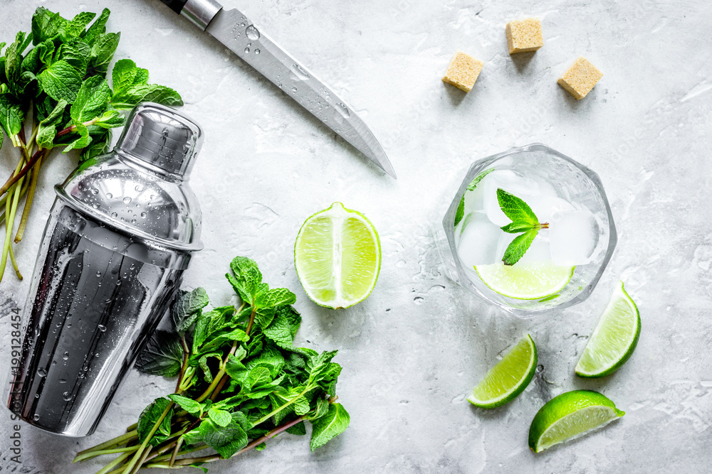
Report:
M 381 268 L 378 232 L 365 215 L 333 203 L 302 225 L 294 265 L 312 301 L 348 308 L 364 301 L 376 285 Z

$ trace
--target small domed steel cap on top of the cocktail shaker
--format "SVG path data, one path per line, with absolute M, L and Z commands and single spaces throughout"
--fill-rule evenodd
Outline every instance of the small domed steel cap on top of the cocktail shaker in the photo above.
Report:
M 192 119 L 144 102 L 129 115 L 117 149 L 167 173 L 187 176 L 202 143 L 203 131 Z

